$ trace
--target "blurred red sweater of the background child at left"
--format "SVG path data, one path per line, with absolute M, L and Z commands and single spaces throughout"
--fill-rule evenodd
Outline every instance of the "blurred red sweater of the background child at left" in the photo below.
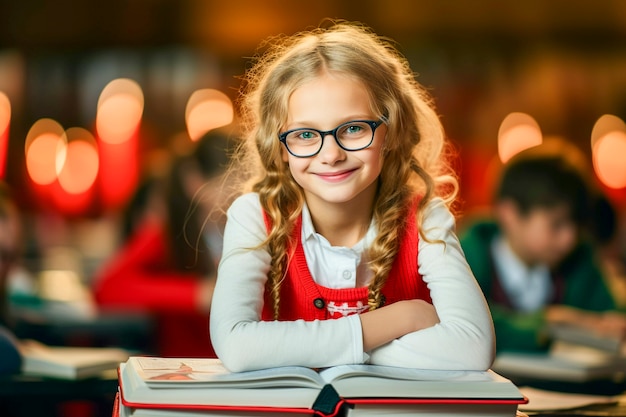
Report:
M 103 311 L 142 311 L 156 320 L 155 354 L 215 357 L 208 315 L 196 309 L 199 277 L 177 271 L 163 226 L 146 222 L 99 271 L 94 296 Z

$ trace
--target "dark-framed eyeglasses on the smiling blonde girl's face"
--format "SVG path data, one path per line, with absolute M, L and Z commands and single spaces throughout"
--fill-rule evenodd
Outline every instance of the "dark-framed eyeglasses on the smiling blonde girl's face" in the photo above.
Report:
M 352 120 L 326 131 L 302 127 L 280 133 L 278 139 L 290 154 L 298 158 L 310 158 L 317 155 L 322 150 L 324 138 L 328 135 L 333 135 L 341 149 L 360 151 L 372 144 L 376 128 L 384 122 L 384 118 L 378 121 Z

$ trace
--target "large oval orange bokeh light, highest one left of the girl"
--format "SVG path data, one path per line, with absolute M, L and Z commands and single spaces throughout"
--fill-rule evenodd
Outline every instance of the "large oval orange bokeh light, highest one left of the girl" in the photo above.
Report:
M 122 143 L 137 131 L 144 108 L 144 97 L 137 82 L 118 78 L 107 84 L 98 99 L 96 131 L 108 143 Z

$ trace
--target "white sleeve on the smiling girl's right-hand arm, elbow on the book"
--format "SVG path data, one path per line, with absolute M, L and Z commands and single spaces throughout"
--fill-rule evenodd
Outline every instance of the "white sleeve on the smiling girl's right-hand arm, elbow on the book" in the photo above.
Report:
M 435 200 L 420 239 L 419 272 L 428 285 L 440 322 L 370 352 L 370 362 L 427 369 L 485 370 L 495 355 L 491 314 L 454 232 L 455 221 Z

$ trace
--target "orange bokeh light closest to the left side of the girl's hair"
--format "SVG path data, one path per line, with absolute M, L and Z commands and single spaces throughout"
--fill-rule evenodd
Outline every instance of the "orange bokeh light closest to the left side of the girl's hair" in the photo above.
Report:
M 219 90 L 206 88 L 194 91 L 187 101 L 185 121 L 187 132 L 193 141 L 200 139 L 211 129 L 232 123 L 233 103 Z

